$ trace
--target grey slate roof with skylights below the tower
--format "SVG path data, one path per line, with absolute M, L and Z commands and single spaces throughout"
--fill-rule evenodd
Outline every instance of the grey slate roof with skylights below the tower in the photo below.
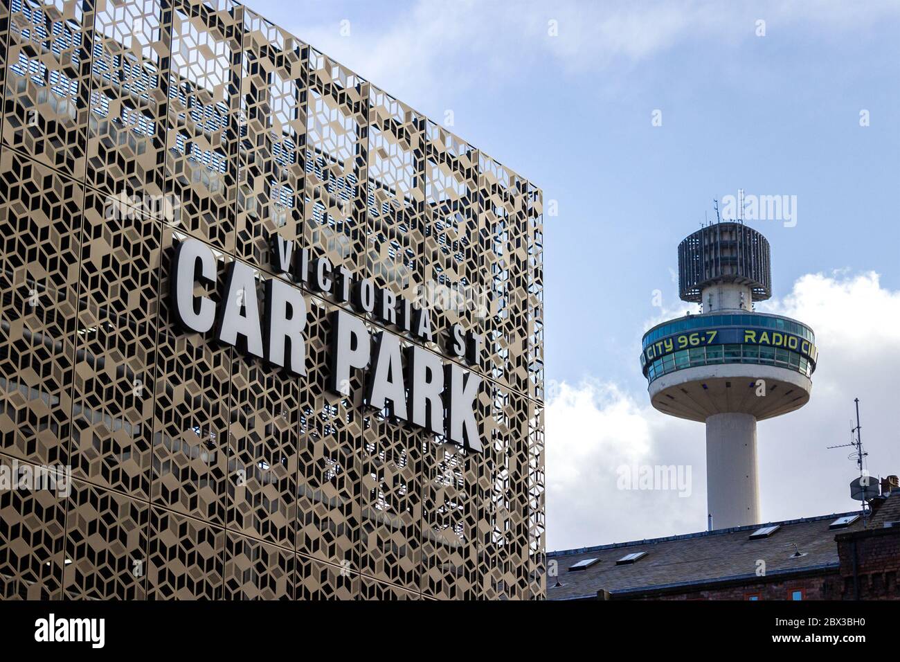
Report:
M 890 512 L 896 510 L 896 517 L 888 519 L 900 520 L 900 494 L 883 503 L 884 508 L 888 506 Z M 876 516 L 882 512 L 879 508 Z M 616 596 L 751 579 L 756 576 L 758 559 L 766 562 L 766 576 L 836 569 L 840 564 L 835 534 L 861 529 L 862 521 L 838 530 L 829 529 L 829 524 L 855 514 L 859 511 L 549 552 L 547 563 L 557 563 L 557 576 L 547 577 L 547 599 L 593 599 L 603 588 Z M 775 524 L 781 528 L 768 538 L 750 540 L 753 531 Z M 793 557 L 797 550 L 803 556 Z M 616 565 L 617 559 L 638 551 L 647 555 L 631 565 Z M 570 572 L 570 567 L 589 558 L 599 560 L 586 569 Z

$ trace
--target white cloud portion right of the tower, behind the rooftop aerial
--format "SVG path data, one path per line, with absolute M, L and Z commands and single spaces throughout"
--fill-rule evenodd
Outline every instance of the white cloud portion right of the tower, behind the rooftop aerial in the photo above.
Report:
M 875 475 L 900 473 L 896 424 L 900 376 L 900 291 L 881 286 L 878 274 L 801 277 L 783 299 L 761 306 L 808 323 L 815 331 L 819 364 L 809 404 L 760 423 L 761 494 L 770 519 L 852 510 L 847 460 L 860 398 L 862 441 Z

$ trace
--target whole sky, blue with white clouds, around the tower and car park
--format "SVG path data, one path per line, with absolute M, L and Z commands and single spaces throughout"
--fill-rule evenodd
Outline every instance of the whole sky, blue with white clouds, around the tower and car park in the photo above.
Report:
M 712 198 L 738 188 L 797 196 L 795 227 L 753 223 L 772 245 L 772 309 L 833 329 L 832 342 L 815 329 L 830 352 L 821 363 L 835 357 L 824 385 L 814 377 L 813 403 L 822 403 L 761 424 L 764 514 L 853 507 L 844 494 L 851 464 L 820 449 L 832 436 L 845 441 L 854 395 L 866 404 L 872 458 L 886 465 L 873 473 L 900 472 L 889 372 L 883 382 L 863 378 L 900 368 L 900 337 L 872 332 L 900 327 L 896 2 L 248 6 L 420 112 L 440 121 L 452 110 L 456 134 L 541 186 L 545 204 L 558 201 L 559 215 L 545 218 L 546 377 L 560 398 L 547 413 L 549 548 L 703 528 L 702 426 L 646 406 L 638 341 L 662 314 L 692 309 L 671 278 L 676 246 L 713 213 Z M 548 33 L 554 21 L 557 36 Z M 652 305 L 655 289 L 663 311 Z M 877 341 L 891 349 L 876 351 Z M 591 439 L 597 415 L 608 439 Z M 697 462 L 697 494 L 642 494 L 621 501 L 625 514 L 589 516 L 592 500 L 621 495 L 592 493 L 583 484 L 608 482 L 608 468 L 591 475 L 568 466 L 572 457 L 616 455 L 644 434 L 640 461 Z M 787 456 L 782 437 L 792 439 Z M 675 443 L 682 438 L 689 450 Z M 833 489 L 788 498 L 788 476 L 801 469 Z

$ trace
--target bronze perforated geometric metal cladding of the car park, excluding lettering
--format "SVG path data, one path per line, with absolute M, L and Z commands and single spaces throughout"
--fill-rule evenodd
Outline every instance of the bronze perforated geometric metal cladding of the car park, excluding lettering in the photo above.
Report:
M 0 460 L 73 481 L 0 491 L 0 595 L 543 598 L 541 191 L 228 0 L 3 3 Z M 330 295 L 302 377 L 175 326 L 176 242 L 218 300 L 275 232 L 487 293 L 431 311 L 484 338 L 482 452 L 327 390 Z

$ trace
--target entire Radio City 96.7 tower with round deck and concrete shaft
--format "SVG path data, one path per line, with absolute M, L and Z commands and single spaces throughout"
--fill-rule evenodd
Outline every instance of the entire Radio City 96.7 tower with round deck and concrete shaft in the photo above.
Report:
M 679 290 L 702 313 L 644 333 L 650 400 L 707 424 L 707 504 L 716 529 L 761 521 L 756 422 L 809 401 L 817 351 L 806 324 L 755 313 L 771 296 L 769 241 L 741 222 L 707 225 L 679 245 Z

